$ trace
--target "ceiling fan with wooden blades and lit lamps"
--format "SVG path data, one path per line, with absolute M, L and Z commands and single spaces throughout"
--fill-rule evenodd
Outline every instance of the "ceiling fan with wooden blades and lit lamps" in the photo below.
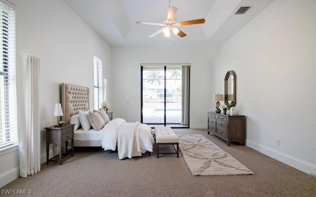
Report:
M 168 8 L 168 14 L 167 14 L 167 20 L 163 21 L 163 23 L 152 23 L 152 22 L 145 22 L 145 21 L 137 21 L 137 24 L 144 24 L 144 25 L 157 25 L 157 26 L 164 26 L 157 32 L 151 34 L 149 37 L 155 37 L 159 33 L 163 32 L 164 36 L 170 37 L 170 32 L 172 31 L 175 35 L 179 35 L 180 37 L 184 37 L 187 34 L 182 32 L 179 28 L 179 26 L 184 25 L 195 25 L 195 24 L 201 24 L 205 22 L 205 19 L 196 19 L 196 20 L 190 20 L 190 21 L 176 21 L 176 13 L 177 13 L 176 7 L 170 7 L 170 0 L 169 0 L 169 8 Z

